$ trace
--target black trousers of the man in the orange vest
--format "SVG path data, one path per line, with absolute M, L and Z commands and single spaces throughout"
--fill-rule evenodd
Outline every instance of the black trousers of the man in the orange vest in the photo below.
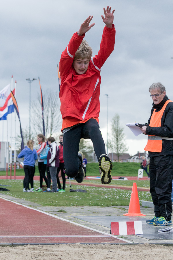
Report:
M 150 157 L 150 193 L 156 217 L 171 220 L 173 155 Z

